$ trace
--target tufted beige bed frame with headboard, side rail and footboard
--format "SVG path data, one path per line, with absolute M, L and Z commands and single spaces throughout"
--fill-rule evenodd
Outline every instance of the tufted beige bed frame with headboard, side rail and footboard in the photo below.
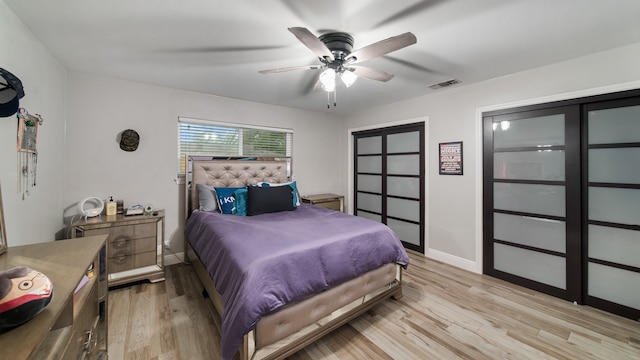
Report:
M 210 159 L 210 158 L 209 158 Z M 186 215 L 197 209 L 194 184 L 243 186 L 252 182 L 286 182 L 288 162 L 278 160 L 209 160 L 187 157 Z M 204 264 L 185 240 L 185 262 L 191 263 L 209 294 L 214 308 L 222 315 L 220 294 Z M 256 328 L 244 336 L 236 358 L 273 360 L 290 356 L 343 324 L 358 317 L 377 303 L 402 297 L 402 267 L 386 264 L 315 296 L 289 304 L 264 316 Z

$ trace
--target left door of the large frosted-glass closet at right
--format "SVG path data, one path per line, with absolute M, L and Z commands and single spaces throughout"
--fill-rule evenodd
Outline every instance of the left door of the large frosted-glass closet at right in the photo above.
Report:
M 484 118 L 484 272 L 580 300 L 579 107 Z

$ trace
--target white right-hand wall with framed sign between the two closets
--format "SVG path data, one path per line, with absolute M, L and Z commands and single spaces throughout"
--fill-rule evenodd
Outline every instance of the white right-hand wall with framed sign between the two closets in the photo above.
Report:
M 640 88 L 638 64 L 640 43 L 360 112 L 344 119 L 342 133 L 348 146 L 349 129 L 429 119 L 426 254 L 479 272 L 481 111 Z M 463 176 L 438 175 L 438 143 L 449 141 L 464 143 Z M 352 171 L 346 157 L 342 167 Z

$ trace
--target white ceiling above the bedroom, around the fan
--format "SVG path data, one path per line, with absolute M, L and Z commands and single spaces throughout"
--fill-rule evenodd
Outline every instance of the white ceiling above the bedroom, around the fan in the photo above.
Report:
M 4 0 L 70 71 L 347 114 L 640 42 L 640 0 Z M 362 65 L 395 74 L 314 90 L 319 64 L 287 28 L 340 30 L 354 50 L 407 31 L 415 45 Z M 442 91 L 442 90 L 440 90 Z

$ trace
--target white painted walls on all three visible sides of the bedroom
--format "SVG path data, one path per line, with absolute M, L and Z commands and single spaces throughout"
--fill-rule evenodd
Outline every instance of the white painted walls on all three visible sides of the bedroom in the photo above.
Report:
M 23 200 L 17 192 L 17 121 L 0 118 L 0 183 L 9 245 L 53 240 L 63 227 L 63 214 L 72 215 L 78 200 L 113 195 L 129 204 L 150 202 L 165 208 L 166 241 L 172 251 L 180 252 L 182 189 L 174 182 L 178 116 L 293 128 L 295 176 L 303 194 L 348 193 L 349 129 L 428 118 L 426 252 L 479 271 L 480 112 L 640 87 L 640 44 L 636 44 L 372 108 L 341 123 L 323 113 L 67 75 L 3 1 L 0 49 L 0 67 L 25 85 L 21 105 L 45 120 L 37 186 Z M 116 142 L 118 133 L 127 128 L 142 137 L 133 153 L 121 151 Z M 464 142 L 465 175 L 438 175 L 438 143 L 458 140 Z

